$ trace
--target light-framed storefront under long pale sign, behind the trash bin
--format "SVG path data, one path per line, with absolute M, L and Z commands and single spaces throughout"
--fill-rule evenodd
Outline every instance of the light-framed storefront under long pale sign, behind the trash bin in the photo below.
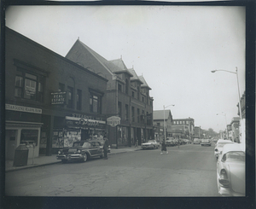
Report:
M 28 158 L 38 157 L 42 109 L 5 104 L 5 158 L 14 160 L 15 148 L 26 144 Z

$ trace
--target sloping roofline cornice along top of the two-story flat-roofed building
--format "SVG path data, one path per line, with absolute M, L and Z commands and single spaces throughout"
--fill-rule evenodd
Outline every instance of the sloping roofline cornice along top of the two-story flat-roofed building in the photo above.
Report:
M 90 70 L 88 70 L 88 69 L 86 69 L 86 68 L 80 66 L 79 64 L 77 64 L 77 63 L 75 63 L 75 62 L 73 62 L 73 61 L 68 60 L 66 57 L 57 54 L 56 52 L 54 52 L 54 51 L 51 50 L 51 49 L 46 48 L 46 47 L 43 46 L 42 44 L 38 44 L 37 42 L 33 41 L 32 39 L 27 38 L 26 36 L 20 34 L 20 32 L 16 32 L 15 30 L 9 28 L 8 26 L 5 26 L 5 29 L 7 29 L 7 31 L 13 33 L 14 35 L 16 35 L 16 36 L 18 36 L 18 37 L 24 39 L 26 42 L 30 42 L 31 44 L 37 45 L 39 48 L 44 49 L 45 51 L 48 51 L 49 54 L 55 55 L 55 56 L 57 56 L 58 58 L 61 58 L 63 61 L 67 61 L 67 62 L 69 62 L 70 64 L 74 65 L 75 67 L 79 67 L 81 70 L 84 70 L 85 72 L 90 73 L 90 74 L 93 74 L 93 75 L 96 76 L 97 78 L 101 78 L 102 80 L 105 80 L 105 81 L 108 82 L 108 79 L 107 79 L 107 78 L 103 78 L 102 76 L 97 75 L 96 73 L 91 72 Z

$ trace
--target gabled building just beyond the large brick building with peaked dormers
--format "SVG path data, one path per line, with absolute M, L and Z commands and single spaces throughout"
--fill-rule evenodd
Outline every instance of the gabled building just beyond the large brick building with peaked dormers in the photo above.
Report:
M 154 139 L 157 142 L 161 142 L 165 137 L 165 128 L 164 128 L 164 116 L 165 116 L 165 125 L 166 125 L 166 137 L 172 136 L 172 113 L 170 109 L 164 110 L 154 110 L 153 119 L 154 119 Z

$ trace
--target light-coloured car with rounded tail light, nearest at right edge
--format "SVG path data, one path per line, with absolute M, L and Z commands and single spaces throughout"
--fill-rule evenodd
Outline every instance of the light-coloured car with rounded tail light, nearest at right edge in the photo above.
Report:
M 218 193 L 245 195 L 245 148 L 241 143 L 227 143 L 217 161 Z

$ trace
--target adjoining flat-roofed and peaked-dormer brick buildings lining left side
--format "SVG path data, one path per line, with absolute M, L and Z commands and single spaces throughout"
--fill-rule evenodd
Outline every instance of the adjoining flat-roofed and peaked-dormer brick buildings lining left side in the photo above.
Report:
M 104 134 L 116 148 L 154 137 L 151 89 L 122 59 L 79 39 L 63 57 L 8 27 L 5 37 L 6 159 L 24 142 L 30 158 Z

